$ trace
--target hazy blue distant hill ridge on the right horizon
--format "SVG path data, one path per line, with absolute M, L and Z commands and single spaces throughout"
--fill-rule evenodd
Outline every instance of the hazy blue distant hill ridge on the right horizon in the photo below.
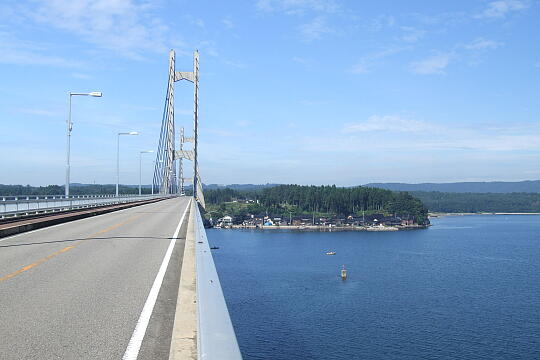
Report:
M 439 191 L 449 193 L 540 193 L 540 180 L 516 182 L 457 182 L 457 183 L 371 183 L 364 186 L 392 191 Z

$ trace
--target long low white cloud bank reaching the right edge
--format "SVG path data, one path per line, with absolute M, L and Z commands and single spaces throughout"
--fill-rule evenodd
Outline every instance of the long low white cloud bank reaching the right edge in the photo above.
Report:
M 447 127 L 397 115 L 374 115 L 366 121 L 346 125 L 341 134 L 327 131 L 324 136 L 299 138 L 298 143 L 304 151 L 321 153 L 355 153 L 366 149 L 375 153 L 394 150 L 400 153 L 460 151 L 461 154 L 538 152 L 539 130 L 538 125 L 533 124 L 512 127 L 454 124 Z

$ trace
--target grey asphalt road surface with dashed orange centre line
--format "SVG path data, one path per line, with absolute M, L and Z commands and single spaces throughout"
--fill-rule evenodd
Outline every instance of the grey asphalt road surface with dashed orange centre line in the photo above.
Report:
M 121 359 L 188 201 L 0 239 L 0 359 Z M 139 359 L 168 358 L 186 224 Z

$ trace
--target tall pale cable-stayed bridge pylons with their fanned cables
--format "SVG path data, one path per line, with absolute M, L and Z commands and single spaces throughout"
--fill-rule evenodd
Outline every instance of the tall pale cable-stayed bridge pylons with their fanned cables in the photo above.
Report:
M 184 169 L 182 160 L 193 161 L 193 196 L 204 207 L 202 182 L 200 181 L 197 161 L 198 127 L 199 127 L 199 52 L 193 54 L 193 71 L 176 71 L 175 51 L 169 52 L 169 81 L 167 84 L 167 97 L 161 122 L 161 134 L 156 164 L 154 167 L 154 186 L 160 194 L 184 194 Z M 174 83 L 187 80 L 194 85 L 193 97 L 193 137 L 184 136 L 184 128 L 180 131 L 180 148 L 175 148 L 174 123 Z M 193 150 L 184 149 L 184 144 L 193 143 Z M 176 167 L 178 160 L 179 172 Z

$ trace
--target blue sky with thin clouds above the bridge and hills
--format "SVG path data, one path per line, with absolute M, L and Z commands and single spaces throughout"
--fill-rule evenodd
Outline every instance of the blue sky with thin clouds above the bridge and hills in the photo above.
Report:
M 139 182 L 200 51 L 204 183 L 540 179 L 540 2 L 3 0 L 0 183 Z M 175 83 L 176 127 L 193 86 Z M 191 144 L 187 144 L 189 146 Z M 155 154 L 143 154 L 150 183 Z M 188 164 L 187 166 L 190 166 Z

